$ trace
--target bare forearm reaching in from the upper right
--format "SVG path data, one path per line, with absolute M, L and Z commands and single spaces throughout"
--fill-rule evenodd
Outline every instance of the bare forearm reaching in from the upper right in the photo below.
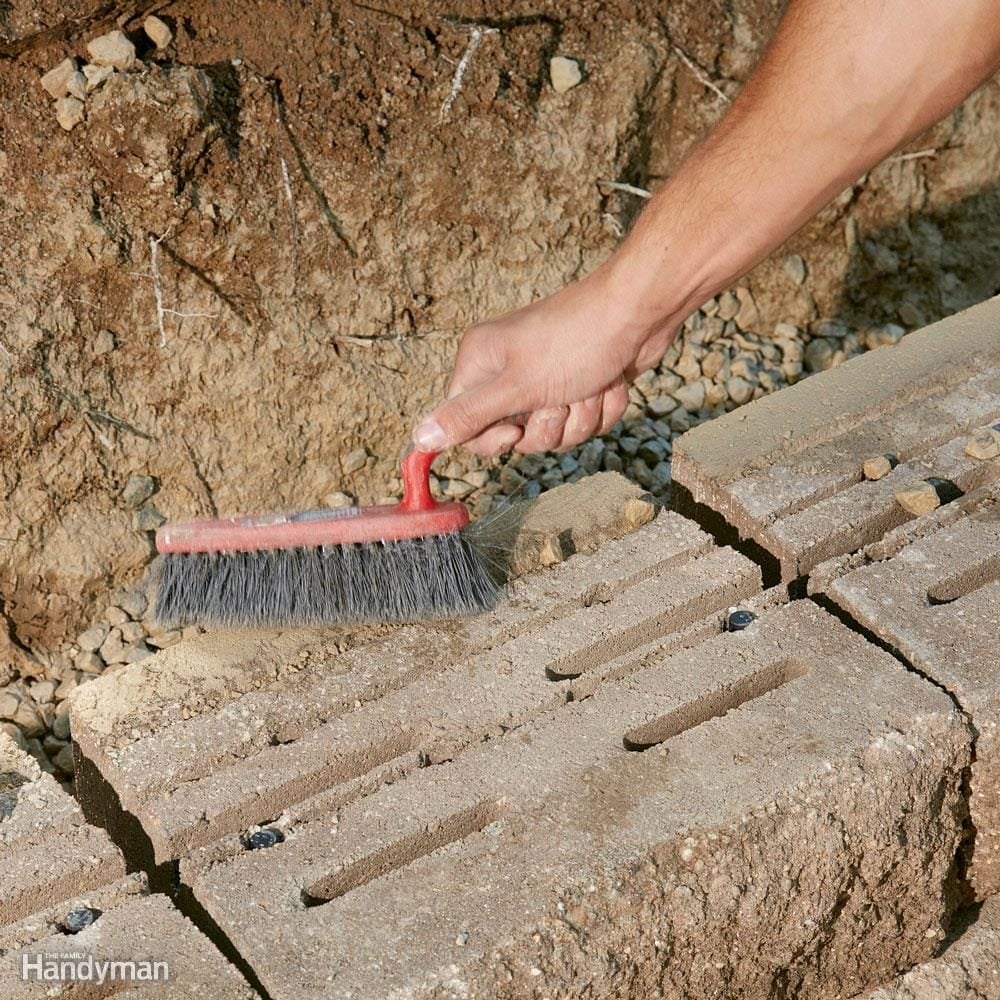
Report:
M 728 114 L 601 269 L 637 334 L 725 288 L 998 64 L 997 0 L 792 0 Z

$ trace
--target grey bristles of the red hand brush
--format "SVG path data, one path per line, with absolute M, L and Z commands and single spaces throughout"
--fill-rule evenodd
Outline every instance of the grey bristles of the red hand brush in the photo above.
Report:
M 280 626 L 453 618 L 501 588 L 460 532 L 363 545 L 170 553 L 158 560 L 164 625 Z

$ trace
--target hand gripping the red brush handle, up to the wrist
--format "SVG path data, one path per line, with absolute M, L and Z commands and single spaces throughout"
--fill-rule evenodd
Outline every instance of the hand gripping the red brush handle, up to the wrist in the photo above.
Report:
M 677 329 L 630 316 L 622 291 L 599 268 L 467 330 L 447 401 L 414 430 L 416 446 L 556 451 L 606 433 L 628 405 L 626 380 L 655 365 Z M 503 422 L 515 414 L 526 415 L 523 426 Z

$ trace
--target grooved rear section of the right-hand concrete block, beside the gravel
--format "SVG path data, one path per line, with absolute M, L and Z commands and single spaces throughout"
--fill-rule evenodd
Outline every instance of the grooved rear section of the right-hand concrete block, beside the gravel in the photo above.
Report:
M 909 520 L 895 492 L 914 480 L 948 481 L 944 500 L 997 481 L 965 449 L 1000 422 L 998 328 L 1000 298 L 694 428 L 673 450 L 681 509 L 707 506 L 792 580 Z M 873 455 L 898 464 L 866 479 Z

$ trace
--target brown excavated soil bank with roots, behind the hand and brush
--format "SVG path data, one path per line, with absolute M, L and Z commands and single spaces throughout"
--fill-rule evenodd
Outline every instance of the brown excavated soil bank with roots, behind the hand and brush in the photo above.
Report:
M 44 662 L 142 575 L 133 476 L 171 518 L 391 491 L 462 330 L 594 266 L 640 207 L 599 182 L 655 187 L 724 110 L 678 50 L 732 95 L 781 6 L 0 3 L 0 656 Z M 38 79 L 119 14 L 141 62 L 64 132 Z M 1000 289 L 998 130 L 993 81 L 744 279 L 757 328 Z

